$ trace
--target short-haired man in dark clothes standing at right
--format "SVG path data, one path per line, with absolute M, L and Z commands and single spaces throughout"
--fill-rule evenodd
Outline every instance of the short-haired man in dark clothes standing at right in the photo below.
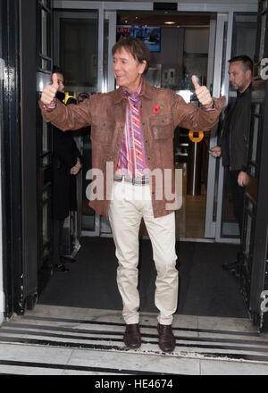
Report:
M 239 55 L 231 58 L 229 63 L 230 85 L 237 91 L 237 98 L 226 110 L 219 146 L 212 147 L 210 154 L 214 157 L 222 155 L 222 165 L 230 180 L 233 213 L 239 222 L 241 238 L 245 186 L 249 181 L 247 163 L 253 62 L 247 55 Z M 240 247 L 237 260 L 224 263 L 222 267 L 239 275 L 241 256 Z

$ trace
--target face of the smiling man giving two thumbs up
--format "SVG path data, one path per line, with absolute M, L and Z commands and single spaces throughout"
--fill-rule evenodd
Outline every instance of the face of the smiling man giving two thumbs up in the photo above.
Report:
M 138 89 L 145 68 L 146 62 L 138 63 L 123 47 L 113 55 L 113 75 L 116 84 L 126 88 L 130 93 Z

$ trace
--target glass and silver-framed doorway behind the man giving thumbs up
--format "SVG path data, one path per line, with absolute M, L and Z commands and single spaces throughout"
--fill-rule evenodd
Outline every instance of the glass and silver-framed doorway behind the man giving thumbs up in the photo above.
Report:
M 229 80 L 226 67 L 228 59 L 238 53 L 241 46 L 244 50 L 246 42 L 247 54 L 254 53 L 256 29 L 254 13 L 239 13 L 235 10 L 220 13 L 214 8 L 207 13 L 200 13 L 197 10 L 191 13 L 163 10 L 138 12 L 131 10 L 130 4 L 128 5 L 130 9 L 127 11 L 114 11 L 116 8 L 114 4 L 105 4 L 106 11 L 99 6 L 96 10 L 90 10 L 89 4 L 85 5 L 84 10 L 73 10 L 73 8 L 69 10 L 70 3 L 55 2 L 55 6 L 58 6 L 54 11 L 57 15 L 54 19 L 54 55 L 57 63 L 63 61 L 59 58 L 59 54 L 70 52 L 71 45 L 75 46 L 76 51 L 80 47 L 73 44 L 78 31 L 71 34 L 70 26 L 65 29 L 66 32 L 70 32 L 71 39 L 66 39 L 68 47 L 65 48 L 66 50 L 63 49 L 64 43 L 59 46 L 64 24 L 70 25 L 74 21 L 87 20 L 87 23 L 90 21 L 98 26 L 98 34 L 95 27 L 94 32 L 90 34 L 91 40 L 88 40 L 85 46 L 88 52 L 95 53 L 88 60 L 90 64 L 88 72 L 95 75 L 95 82 L 88 87 L 76 85 L 75 72 L 73 72 L 72 83 L 66 88 L 70 91 L 76 90 L 82 96 L 83 93 L 90 95 L 96 91 L 105 92 L 114 88 L 111 48 L 117 38 L 131 34 L 131 29 L 136 35 L 144 34 L 149 30 L 160 33 L 159 46 L 155 46 L 156 50 L 152 48 L 151 52 L 152 66 L 147 74 L 149 83 L 155 84 L 156 87 L 172 88 L 186 101 L 196 105 L 197 101 L 190 81 L 193 73 L 197 73 L 200 82 L 205 83 L 214 96 L 224 94 L 228 96 Z M 70 4 L 69 7 L 67 4 Z M 147 7 L 151 9 L 152 4 L 147 4 Z M 248 6 L 244 8 L 247 11 Z M 85 37 L 84 24 L 78 22 L 78 25 L 81 31 L 80 37 Z M 80 59 L 81 55 L 72 56 L 72 62 L 75 61 L 75 57 Z M 230 97 L 231 94 L 232 92 Z M 183 204 L 180 211 L 176 213 L 177 238 L 239 244 L 237 223 L 231 213 L 231 203 L 226 198 L 222 198 L 223 195 L 227 195 L 228 198 L 228 194 L 223 192 L 225 184 L 222 163 L 214 160 L 207 152 L 209 146 L 217 144 L 221 130 L 216 126 L 214 130 L 206 132 L 200 142 L 192 142 L 188 138 L 188 131 L 177 130 L 174 139 L 174 163 L 183 173 Z M 79 143 L 81 148 L 85 149 L 86 163 L 80 180 L 82 202 L 78 215 L 79 235 L 111 237 L 109 223 L 88 208 L 86 195 L 91 181 L 87 176 L 91 168 L 90 135 L 80 138 Z M 141 236 L 147 236 L 144 226 L 141 229 Z

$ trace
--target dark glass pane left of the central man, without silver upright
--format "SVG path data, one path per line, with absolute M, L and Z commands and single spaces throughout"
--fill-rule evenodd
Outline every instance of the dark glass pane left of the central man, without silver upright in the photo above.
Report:
M 98 90 L 98 10 L 54 11 L 54 64 L 63 69 L 65 93 L 78 102 Z M 88 39 L 90 37 L 90 39 Z M 63 226 L 64 252 L 78 249 L 80 233 L 97 235 L 96 216 L 88 206 L 88 171 L 91 169 L 90 128 L 73 133 L 82 155 L 77 176 L 78 212 L 71 213 Z M 72 243 L 72 244 L 71 244 Z

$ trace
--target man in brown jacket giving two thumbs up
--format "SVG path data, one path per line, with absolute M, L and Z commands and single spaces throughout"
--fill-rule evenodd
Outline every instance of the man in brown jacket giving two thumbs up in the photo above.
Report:
M 201 106 L 187 104 L 171 89 L 150 86 L 144 74 L 150 63 L 147 45 L 124 38 L 112 49 L 113 75 L 118 88 L 96 93 L 79 105 L 54 103 L 56 80 L 44 89 L 39 103 L 45 121 L 61 130 L 91 126 L 94 187 L 90 206 L 107 218 L 113 231 L 119 267 L 117 285 L 126 322 L 126 347 L 141 345 L 138 294 L 138 232 L 141 219 L 152 241 L 157 278 L 155 306 L 159 347 L 175 348 L 172 332 L 177 309 L 175 213 L 176 195 L 173 136 L 177 127 L 208 131 L 218 121 L 225 98 L 212 98 L 193 78 Z M 55 105 L 54 109 L 46 105 Z M 44 107 L 45 106 L 45 107 Z M 157 170 L 158 176 L 153 176 Z M 157 177 L 157 180 L 156 180 Z M 122 197 L 123 196 L 123 197 Z M 156 328 L 156 326 L 155 326 Z M 156 329 L 155 329 L 156 330 Z

